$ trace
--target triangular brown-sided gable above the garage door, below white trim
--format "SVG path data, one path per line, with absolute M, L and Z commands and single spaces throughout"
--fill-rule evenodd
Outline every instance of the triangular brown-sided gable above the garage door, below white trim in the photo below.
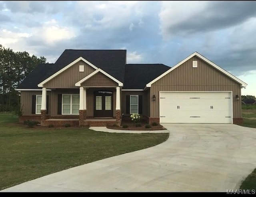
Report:
M 193 61 L 197 61 L 197 67 L 193 67 Z M 194 56 L 182 63 L 179 67 L 172 70 L 152 85 L 240 85 L 230 79 L 202 59 Z

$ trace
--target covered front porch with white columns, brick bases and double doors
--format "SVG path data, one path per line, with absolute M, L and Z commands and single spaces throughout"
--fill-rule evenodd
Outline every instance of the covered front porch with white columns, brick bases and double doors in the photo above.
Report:
M 46 88 L 42 88 L 42 126 L 121 124 L 120 87 L 77 87 L 50 92 L 47 108 Z

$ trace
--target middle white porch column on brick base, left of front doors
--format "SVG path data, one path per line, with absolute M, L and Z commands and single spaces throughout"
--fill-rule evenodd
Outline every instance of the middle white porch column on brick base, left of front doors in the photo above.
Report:
M 79 94 L 79 126 L 84 126 L 86 120 L 86 89 L 80 87 Z

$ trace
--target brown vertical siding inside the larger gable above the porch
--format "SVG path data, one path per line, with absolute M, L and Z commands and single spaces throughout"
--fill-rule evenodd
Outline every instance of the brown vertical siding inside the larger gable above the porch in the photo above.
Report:
M 84 65 L 84 72 L 79 72 L 79 65 Z M 78 63 L 72 65 L 70 68 L 66 69 L 46 84 L 46 88 L 75 88 L 75 83 L 94 72 L 95 69 L 84 61 L 79 61 Z

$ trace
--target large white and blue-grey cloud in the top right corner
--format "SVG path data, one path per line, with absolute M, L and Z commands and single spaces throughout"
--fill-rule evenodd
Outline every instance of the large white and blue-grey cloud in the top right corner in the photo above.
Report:
M 256 16 L 255 1 L 162 2 L 159 14 L 164 39 L 235 26 Z

